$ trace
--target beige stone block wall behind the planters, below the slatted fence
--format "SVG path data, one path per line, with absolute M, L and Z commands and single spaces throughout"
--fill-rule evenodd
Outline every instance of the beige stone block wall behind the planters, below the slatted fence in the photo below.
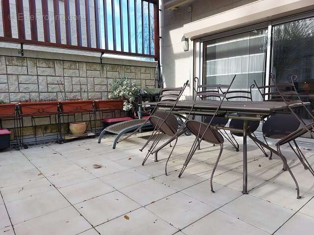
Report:
M 60 57 L 62 58 L 61 54 Z M 79 57 L 79 56 L 78 56 Z M 137 63 L 138 64 L 138 63 Z M 154 63 L 143 62 L 144 66 L 121 64 L 100 64 L 82 61 L 31 58 L 0 55 L 0 99 L 5 102 L 33 100 L 64 100 L 65 97 L 81 99 L 107 99 L 112 92 L 110 83 L 123 77 L 135 81 L 139 88 L 157 87 Z M 147 67 L 147 65 L 150 65 Z M 123 112 L 97 114 L 100 119 L 119 117 Z M 65 118 L 66 119 L 66 118 Z M 88 115 L 76 114 L 64 122 L 89 120 Z M 55 134 L 55 117 L 36 118 L 37 136 Z M 12 129 L 12 119 L 3 119 L 4 128 Z M 92 121 L 92 125 L 94 122 Z M 31 118 L 24 118 L 24 134 L 33 136 Z M 62 127 L 67 131 L 67 125 Z

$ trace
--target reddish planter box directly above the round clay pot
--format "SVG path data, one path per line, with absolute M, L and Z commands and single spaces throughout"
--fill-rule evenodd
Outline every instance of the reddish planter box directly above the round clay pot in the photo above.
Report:
M 61 101 L 61 112 L 63 114 L 89 113 L 93 112 L 93 100 Z

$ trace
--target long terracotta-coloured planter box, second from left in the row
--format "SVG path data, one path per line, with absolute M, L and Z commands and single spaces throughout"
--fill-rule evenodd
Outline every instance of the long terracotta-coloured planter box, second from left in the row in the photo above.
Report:
M 48 116 L 58 113 L 57 101 L 19 103 L 21 116 Z

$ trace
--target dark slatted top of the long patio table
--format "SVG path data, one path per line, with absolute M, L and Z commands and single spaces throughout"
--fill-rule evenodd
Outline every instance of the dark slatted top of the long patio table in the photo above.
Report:
M 187 109 L 193 105 L 193 100 L 180 100 L 176 108 Z M 197 100 L 194 108 L 200 110 L 215 110 L 221 101 L 219 100 Z M 160 101 L 158 107 L 172 107 L 175 101 Z M 157 102 L 147 103 L 152 106 L 156 106 Z M 304 103 L 309 105 L 309 102 Z M 301 103 L 290 105 L 290 107 L 300 107 Z M 270 101 L 223 101 L 220 107 L 220 111 L 233 111 L 233 112 L 254 112 L 254 113 L 272 113 L 274 111 L 280 111 L 288 108 L 285 102 L 270 102 Z

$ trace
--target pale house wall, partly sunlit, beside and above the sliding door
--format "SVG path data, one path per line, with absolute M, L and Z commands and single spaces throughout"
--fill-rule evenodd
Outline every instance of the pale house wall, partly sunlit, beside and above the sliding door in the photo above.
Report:
M 170 0 L 165 0 L 165 3 L 167 1 Z M 163 23 L 161 24 L 161 54 L 163 79 L 165 85 L 171 87 L 181 86 L 187 79 L 192 81 L 193 78 L 193 63 L 194 65 L 196 63 L 195 58 L 193 58 L 193 41 L 189 41 L 189 51 L 184 52 L 181 45 L 181 38 L 184 35 L 184 24 L 195 22 L 200 19 L 204 19 L 209 16 L 226 12 L 245 4 L 254 3 L 257 1 L 261 2 L 262 0 L 190 0 L 185 2 L 176 10 L 164 10 L 164 15 L 161 20 Z M 189 12 L 189 7 L 191 7 L 191 12 Z M 281 13 L 279 15 L 274 14 L 271 18 L 260 19 L 258 21 L 255 20 L 254 22 L 247 22 L 245 25 L 265 22 L 267 20 L 278 19 L 282 16 L 310 10 L 309 7 L 303 7 L 300 9 L 297 8 L 298 7 L 292 11 L 289 9 L 288 12 Z M 250 14 L 250 12 L 247 14 Z M 228 16 L 226 16 L 226 18 L 228 19 Z M 219 32 L 230 29 L 231 28 L 222 28 L 219 30 Z M 195 48 L 195 50 L 196 49 L 197 48 Z M 191 94 L 191 88 L 186 90 L 186 98 L 190 98 Z

